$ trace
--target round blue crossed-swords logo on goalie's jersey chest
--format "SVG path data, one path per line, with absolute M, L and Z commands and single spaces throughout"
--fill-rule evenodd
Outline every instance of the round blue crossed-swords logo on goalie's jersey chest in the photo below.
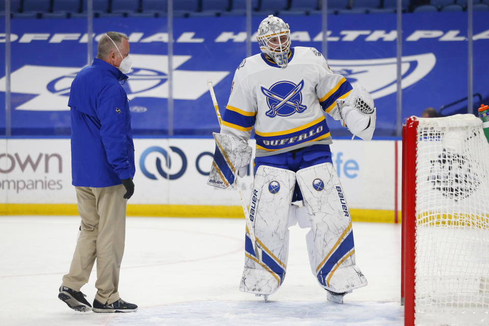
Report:
M 288 80 L 282 80 L 270 86 L 269 89 L 262 86 L 261 92 L 266 96 L 266 104 L 270 108 L 265 114 L 270 118 L 277 115 L 287 117 L 306 110 L 307 106 L 301 104 L 303 88 L 304 79 L 297 85 Z

